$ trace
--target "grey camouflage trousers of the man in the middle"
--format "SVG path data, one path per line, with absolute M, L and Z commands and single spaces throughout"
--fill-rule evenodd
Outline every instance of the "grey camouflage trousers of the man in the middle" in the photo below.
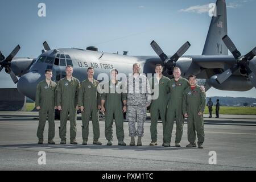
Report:
M 143 137 L 144 121 L 146 121 L 146 106 L 128 106 L 126 119 L 129 125 L 130 137 Z M 137 129 L 135 123 L 137 121 Z

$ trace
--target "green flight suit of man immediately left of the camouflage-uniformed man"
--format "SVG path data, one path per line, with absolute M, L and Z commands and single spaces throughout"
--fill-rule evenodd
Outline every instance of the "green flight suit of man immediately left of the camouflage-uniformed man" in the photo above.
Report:
M 127 94 L 121 93 L 122 82 L 113 84 L 109 81 L 108 93 L 101 94 L 101 100 L 105 100 L 105 137 L 108 141 L 113 140 L 113 119 L 115 119 L 115 127 L 118 142 L 123 142 L 125 134 L 123 132 L 123 105 L 122 101 L 127 100 Z

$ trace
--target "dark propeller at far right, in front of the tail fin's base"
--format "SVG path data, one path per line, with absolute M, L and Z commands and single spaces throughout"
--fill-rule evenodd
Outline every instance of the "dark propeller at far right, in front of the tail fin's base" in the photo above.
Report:
M 227 80 L 231 75 L 233 75 L 234 72 L 240 69 L 241 73 L 246 74 L 249 77 L 253 86 L 256 88 L 256 76 L 255 73 L 251 70 L 252 65 L 250 64 L 250 60 L 252 60 L 253 57 L 256 55 L 256 47 L 254 47 L 246 55 L 242 56 L 228 35 L 225 35 L 222 40 L 226 47 L 229 49 L 229 51 L 232 53 L 234 58 L 237 60 L 237 62 L 233 65 L 232 68 L 229 68 L 220 75 L 218 75 L 216 80 L 220 84 L 222 84 L 222 82 Z

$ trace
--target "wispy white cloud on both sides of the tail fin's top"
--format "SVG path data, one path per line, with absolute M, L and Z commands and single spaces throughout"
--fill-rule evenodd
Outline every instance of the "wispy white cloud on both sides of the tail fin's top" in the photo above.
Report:
M 241 3 L 246 3 L 247 1 L 244 0 Z M 237 2 L 230 2 L 226 5 L 228 9 L 236 9 L 238 7 L 242 6 L 240 3 Z M 198 13 L 198 14 L 203 14 L 203 13 L 208 13 L 211 7 L 209 7 L 209 4 L 207 5 L 196 5 L 196 6 L 191 6 L 188 7 L 187 9 L 181 9 L 179 10 L 180 12 L 187 12 L 187 13 Z

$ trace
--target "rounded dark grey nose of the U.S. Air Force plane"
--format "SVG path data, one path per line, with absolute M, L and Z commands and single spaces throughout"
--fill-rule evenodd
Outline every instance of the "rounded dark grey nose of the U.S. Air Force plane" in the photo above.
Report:
M 24 96 L 35 101 L 36 86 L 38 85 L 38 82 L 42 80 L 43 77 L 39 73 L 26 73 L 19 78 L 17 89 L 20 93 L 24 94 Z

